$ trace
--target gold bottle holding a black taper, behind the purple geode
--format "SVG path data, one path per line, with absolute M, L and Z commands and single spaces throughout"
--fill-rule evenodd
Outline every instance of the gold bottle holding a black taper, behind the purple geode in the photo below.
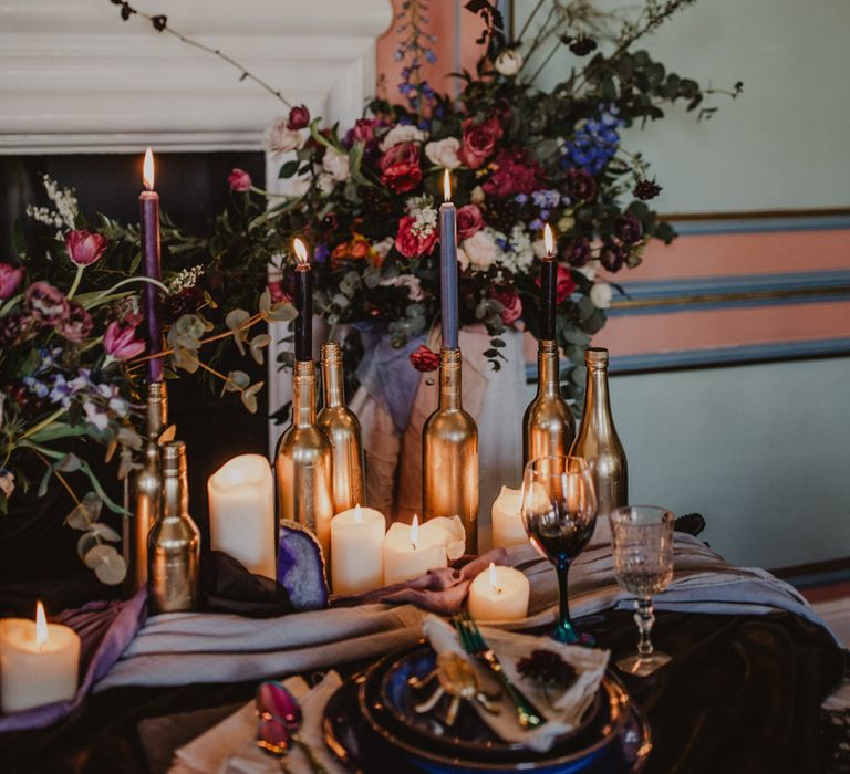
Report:
M 274 460 L 278 517 L 311 530 L 331 562 L 333 448 L 315 422 L 315 364 L 296 360 L 292 373 L 292 423 L 278 443 Z

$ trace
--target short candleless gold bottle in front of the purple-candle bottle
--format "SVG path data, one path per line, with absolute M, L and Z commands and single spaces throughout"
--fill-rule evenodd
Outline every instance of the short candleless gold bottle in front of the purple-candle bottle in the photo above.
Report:
M 153 613 L 194 610 L 198 605 L 200 532 L 189 515 L 186 446 L 163 447 L 163 512 L 148 536 L 148 603 Z

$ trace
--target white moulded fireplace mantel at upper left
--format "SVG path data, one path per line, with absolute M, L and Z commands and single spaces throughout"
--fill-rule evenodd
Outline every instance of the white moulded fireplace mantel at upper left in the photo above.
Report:
M 375 83 L 388 0 L 137 0 L 313 115 L 349 123 Z M 0 0 L 0 154 L 256 150 L 286 106 L 110 0 Z

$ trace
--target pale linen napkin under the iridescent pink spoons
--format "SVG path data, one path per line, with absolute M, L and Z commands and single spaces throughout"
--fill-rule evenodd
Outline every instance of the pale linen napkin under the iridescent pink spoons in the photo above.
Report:
M 340 676 L 328 672 L 312 690 L 303 678 L 283 681 L 301 704 L 303 725 L 299 739 L 307 744 L 329 774 L 344 774 L 345 768 L 324 745 L 322 719 L 331 694 L 342 684 Z M 258 720 L 253 702 L 212 726 L 175 753 L 169 774 L 280 774 L 278 759 L 257 746 Z M 298 745 L 283 759 L 292 774 L 311 774 L 307 755 Z

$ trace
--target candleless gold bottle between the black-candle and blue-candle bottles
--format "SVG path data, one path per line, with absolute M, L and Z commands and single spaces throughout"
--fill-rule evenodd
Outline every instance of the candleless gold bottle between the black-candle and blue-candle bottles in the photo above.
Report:
M 333 512 L 340 513 L 365 504 L 365 478 L 360 421 L 345 406 L 339 344 L 322 344 L 322 384 L 324 407 L 319 411 L 317 425 L 333 447 Z

